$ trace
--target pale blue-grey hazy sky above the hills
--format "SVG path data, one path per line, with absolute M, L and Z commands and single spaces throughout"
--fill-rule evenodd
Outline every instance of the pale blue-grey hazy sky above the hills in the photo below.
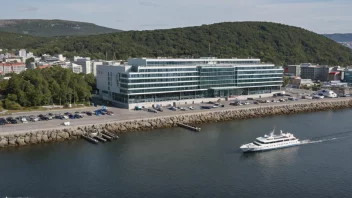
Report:
M 270 21 L 352 33 L 352 0 L 4 0 L 1 7 L 0 19 L 63 19 L 121 30 Z

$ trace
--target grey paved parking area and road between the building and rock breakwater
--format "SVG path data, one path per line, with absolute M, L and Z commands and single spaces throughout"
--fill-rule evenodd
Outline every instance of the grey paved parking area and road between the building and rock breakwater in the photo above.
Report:
M 291 96 L 292 97 L 292 96 Z M 87 111 L 94 112 L 95 110 L 100 109 L 101 107 L 87 107 L 82 108 L 80 110 L 53 110 L 53 111 L 45 111 L 45 112 L 23 112 L 23 113 L 16 113 L 11 116 L 2 116 L 1 118 L 8 118 L 12 117 L 14 119 L 26 116 L 26 117 L 38 117 L 39 115 L 42 116 L 50 116 L 52 115 L 51 119 L 42 119 L 38 121 L 28 121 L 28 123 L 21 123 L 21 121 L 17 121 L 18 124 L 5 124 L 0 125 L 0 133 L 14 133 L 14 132 L 27 132 L 33 130 L 46 130 L 46 129 L 57 129 L 57 128 L 64 128 L 68 126 L 64 126 L 64 122 L 70 122 L 71 126 L 84 126 L 90 124 L 103 124 L 109 122 L 118 122 L 118 121 L 127 121 L 127 120 L 138 120 L 138 119 L 150 119 L 155 117 L 164 117 L 164 116 L 172 116 L 172 115 L 180 115 L 180 114 L 189 114 L 189 113 L 200 113 L 200 112 L 210 112 L 210 111 L 220 111 L 220 110 L 232 110 L 232 109 L 251 109 L 257 107 L 267 107 L 267 106 L 281 106 L 287 104 L 304 104 L 304 103 L 312 103 L 312 102 L 320 102 L 320 101 L 339 101 L 339 100 L 350 100 L 350 97 L 344 98 L 324 98 L 320 100 L 316 99 L 298 99 L 298 100 L 288 100 L 290 96 L 281 96 L 281 97 L 269 97 L 263 98 L 262 101 L 268 101 L 265 103 L 254 100 L 241 100 L 241 103 L 248 102 L 247 104 L 242 105 L 230 105 L 234 101 L 207 101 L 202 104 L 192 104 L 193 110 L 190 109 L 190 105 L 180 105 L 177 107 L 176 110 L 170 110 L 170 107 L 163 107 L 162 112 L 155 110 L 156 113 L 153 111 L 148 111 L 148 109 L 143 110 L 128 110 L 128 109 L 120 109 L 116 107 L 108 107 L 106 111 L 111 111 L 112 114 L 108 115 L 105 113 L 104 115 L 87 115 Z M 272 102 L 273 100 L 278 101 L 280 99 L 285 99 L 284 102 Z M 211 103 L 209 103 L 211 102 Z M 216 104 L 218 103 L 218 104 Z M 207 106 L 209 108 L 202 108 Z M 151 108 L 149 108 L 151 109 Z M 182 110 L 181 110 L 182 109 Z M 49 115 L 50 114 L 50 115 Z M 71 119 L 58 119 L 57 115 L 76 115 L 80 114 L 82 117 L 76 118 L 72 117 Z M 72 119 L 74 118 L 74 119 Z

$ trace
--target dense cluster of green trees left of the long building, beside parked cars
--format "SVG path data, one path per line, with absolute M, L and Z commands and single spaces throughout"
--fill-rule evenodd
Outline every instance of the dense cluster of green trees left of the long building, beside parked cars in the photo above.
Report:
M 70 69 L 54 66 L 11 74 L 9 80 L 0 81 L 0 94 L 5 96 L 3 107 L 21 109 L 89 102 L 95 86 L 93 74 L 76 74 Z

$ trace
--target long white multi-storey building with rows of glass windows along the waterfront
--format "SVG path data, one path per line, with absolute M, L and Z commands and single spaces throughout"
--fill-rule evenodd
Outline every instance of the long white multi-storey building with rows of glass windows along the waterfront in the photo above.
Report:
M 135 104 L 205 98 L 231 98 L 280 90 L 282 67 L 260 59 L 147 59 L 128 65 L 97 66 L 97 87 L 104 100 L 125 108 Z

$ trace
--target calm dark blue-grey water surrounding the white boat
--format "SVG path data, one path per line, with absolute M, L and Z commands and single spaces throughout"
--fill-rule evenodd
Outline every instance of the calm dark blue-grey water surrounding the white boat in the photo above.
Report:
M 352 110 L 0 150 L 0 196 L 352 197 Z M 272 128 L 307 144 L 242 154 Z

